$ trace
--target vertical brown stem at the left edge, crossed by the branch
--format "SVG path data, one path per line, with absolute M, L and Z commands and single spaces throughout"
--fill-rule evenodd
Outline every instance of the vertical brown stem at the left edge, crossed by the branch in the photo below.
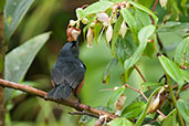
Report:
M 4 21 L 3 13 L 0 12 L 0 77 L 4 77 L 4 55 L 6 55 L 6 42 L 4 42 Z M 4 88 L 0 86 L 0 126 L 4 126 Z

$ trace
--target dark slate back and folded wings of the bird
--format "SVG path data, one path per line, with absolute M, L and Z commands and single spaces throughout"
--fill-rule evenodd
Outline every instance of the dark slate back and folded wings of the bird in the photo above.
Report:
M 52 70 L 52 80 L 56 85 L 69 84 L 75 88 L 84 78 L 86 67 L 78 59 L 57 61 Z

